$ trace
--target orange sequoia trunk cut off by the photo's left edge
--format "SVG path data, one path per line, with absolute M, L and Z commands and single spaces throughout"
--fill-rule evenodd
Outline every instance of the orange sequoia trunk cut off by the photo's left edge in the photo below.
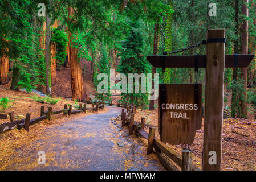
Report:
M 9 82 L 9 58 L 6 55 L 0 57 L 0 84 Z

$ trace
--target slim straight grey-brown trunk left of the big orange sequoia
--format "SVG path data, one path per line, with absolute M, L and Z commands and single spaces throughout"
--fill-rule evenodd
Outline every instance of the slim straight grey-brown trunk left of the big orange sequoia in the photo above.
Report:
M 46 59 L 46 94 L 51 96 L 51 31 L 50 31 L 51 18 L 46 15 L 46 48 L 45 48 L 45 59 Z

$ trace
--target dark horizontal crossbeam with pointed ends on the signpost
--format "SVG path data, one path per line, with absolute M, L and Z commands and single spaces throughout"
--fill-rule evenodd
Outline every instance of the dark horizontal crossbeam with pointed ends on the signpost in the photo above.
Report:
M 254 55 L 225 55 L 225 68 L 246 68 L 253 57 Z M 147 60 L 155 68 L 206 68 L 206 55 L 156 55 L 147 56 Z

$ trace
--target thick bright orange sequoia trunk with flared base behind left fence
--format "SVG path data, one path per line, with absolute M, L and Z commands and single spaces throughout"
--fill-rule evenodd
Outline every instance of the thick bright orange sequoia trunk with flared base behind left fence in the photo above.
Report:
M 73 15 L 74 10 L 72 7 L 68 7 L 68 17 Z M 78 59 L 78 48 L 75 48 L 75 44 L 72 43 L 70 33 L 70 46 L 68 49 L 68 59 L 70 59 L 70 72 L 71 72 L 71 90 L 72 90 L 72 100 L 86 100 L 86 90 L 84 89 L 84 82 L 82 76 L 82 69 L 80 66 L 80 61 Z

